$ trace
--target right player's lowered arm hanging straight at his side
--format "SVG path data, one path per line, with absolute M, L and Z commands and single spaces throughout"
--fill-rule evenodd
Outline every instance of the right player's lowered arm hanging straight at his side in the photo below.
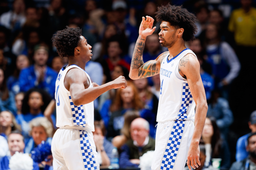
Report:
M 199 72 L 200 65 L 196 57 L 192 54 L 187 54 L 179 61 L 178 69 L 180 74 L 186 76 L 188 87 L 196 104 L 194 132 L 187 155 L 187 166 L 189 170 L 191 170 L 191 167 L 195 169 L 198 165 L 200 166 L 199 141 L 204 127 L 208 106 Z

